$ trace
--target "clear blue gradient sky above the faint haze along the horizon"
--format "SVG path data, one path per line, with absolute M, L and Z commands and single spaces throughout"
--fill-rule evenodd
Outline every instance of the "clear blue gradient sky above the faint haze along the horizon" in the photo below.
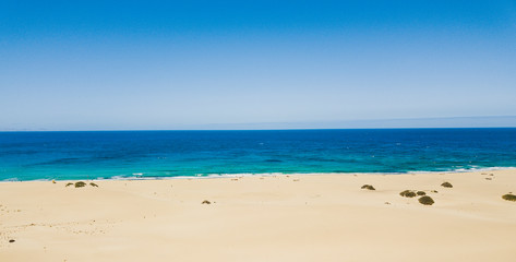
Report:
M 0 130 L 487 116 L 514 0 L 0 2 Z

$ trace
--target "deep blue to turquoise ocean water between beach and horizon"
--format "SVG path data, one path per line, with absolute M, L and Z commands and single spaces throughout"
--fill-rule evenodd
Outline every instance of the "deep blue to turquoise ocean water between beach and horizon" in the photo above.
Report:
M 0 132 L 0 180 L 516 167 L 516 129 Z

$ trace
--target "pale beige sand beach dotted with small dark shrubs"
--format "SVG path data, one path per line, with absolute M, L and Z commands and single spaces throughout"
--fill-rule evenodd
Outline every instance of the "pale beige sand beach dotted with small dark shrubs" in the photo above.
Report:
M 0 261 L 516 261 L 516 170 L 484 174 L 2 182 Z

